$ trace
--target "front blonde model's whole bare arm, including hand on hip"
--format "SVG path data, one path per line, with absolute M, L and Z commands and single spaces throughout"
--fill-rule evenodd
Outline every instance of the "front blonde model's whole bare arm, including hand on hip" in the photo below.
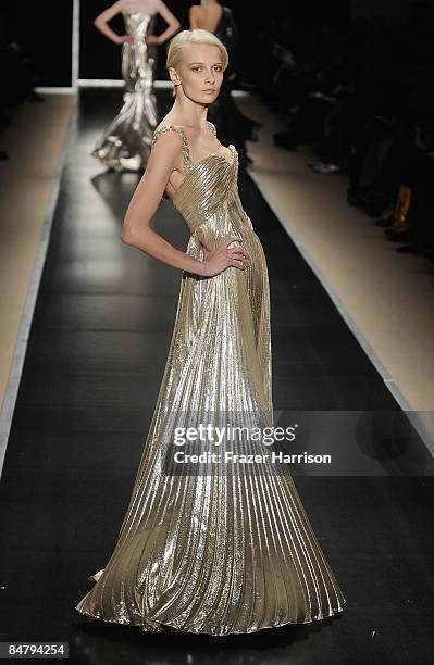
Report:
M 137 247 L 153 259 L 202 277 L 218 275 L 228 266 L 246 269 L 249 261 L 246 250 L 239 246 L 228 248 L 234 241 L 243 242 L 237 236 L 226 237 L 211 252 L 203 247 L 204 260 L 199 261 L 177 250 L 150 228 L 171 173 L 182 156 L 182 137 L 175 131 L 159 136 L 126 210 L 122 241 Z

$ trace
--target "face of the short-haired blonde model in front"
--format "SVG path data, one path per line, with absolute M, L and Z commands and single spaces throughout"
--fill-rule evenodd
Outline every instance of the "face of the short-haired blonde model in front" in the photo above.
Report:
M 171 70 L 171 77 L 179 81 L 183 92 L 191 101 L 210 104 L 219 95 L 223 80 L 220 49 L 209 43 L 187 43 L 178 70 Z

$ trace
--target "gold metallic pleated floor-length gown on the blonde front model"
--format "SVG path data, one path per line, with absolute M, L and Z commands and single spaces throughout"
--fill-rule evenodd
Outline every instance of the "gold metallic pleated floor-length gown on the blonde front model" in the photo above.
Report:
M 210 131 L 215 127 L 209 122 Z M 270 294 L 265 256 L 237 188 L 238 155 L 194 164 L 181 127 L 185 178 L 172 202 L 203 259 L 243 238 L 250 264 L 213 277 L 183 272 L 173 337 L 156 410 L 115 549 L 76 610 L 160 631 L 253 632 L 343 611 L 343 592 L 289 474 L 270 466 L 168 473 L 171 425 L 227 416 L 272 418 Z M 240 450 L 238 448 L 238 450 Z M 219 466 L 219 465 L 216 465 Z M 209 470 L 209 469 L 207 469 Z

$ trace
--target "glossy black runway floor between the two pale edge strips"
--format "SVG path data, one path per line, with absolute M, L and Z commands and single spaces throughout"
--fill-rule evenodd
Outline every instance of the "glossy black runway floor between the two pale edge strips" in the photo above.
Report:
M 160 113 L 171 103 L 160 93 Z M 107 563 L 158 397 L 181 272 L 121 241 L 134 174 L 89 153 L 121 92 L 80 93 L 0 485 L 2 641 L 69 641 L 70 662 L 431 663 L 432 459 L 411 428 L 350 473 L 296 484 L 347 603 L 340 615 L 253 635 L 147 633 L 73 607 Z M 400 407 L 245 172 L 240 197 L 268 259 L 276 410 Z M 153 224 L 185 249 L 170 201 Z M 361 455 L 368 472 L 359 474 Z

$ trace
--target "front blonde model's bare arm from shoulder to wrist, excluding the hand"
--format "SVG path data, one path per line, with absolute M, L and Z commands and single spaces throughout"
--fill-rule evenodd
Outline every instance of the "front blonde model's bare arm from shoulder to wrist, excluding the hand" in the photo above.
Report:
M 203 262 L 188 256 L 150 228 L 170 175 L 182 154 L 182 138 L 174 131 L 159 136 L 142 178 L 129 202 L 122 229 L 122 241 L 174 267 L 203 275 Z

